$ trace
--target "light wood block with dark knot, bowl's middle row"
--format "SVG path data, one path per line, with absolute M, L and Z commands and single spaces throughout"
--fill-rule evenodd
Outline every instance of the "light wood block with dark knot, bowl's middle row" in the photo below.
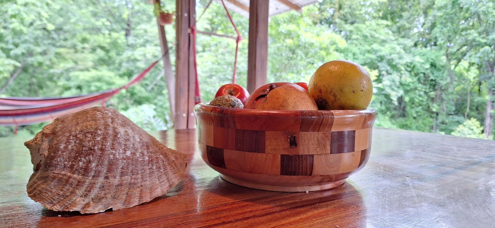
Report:
M 299 132 L 265 132 L 265 153 L 299 154 Z

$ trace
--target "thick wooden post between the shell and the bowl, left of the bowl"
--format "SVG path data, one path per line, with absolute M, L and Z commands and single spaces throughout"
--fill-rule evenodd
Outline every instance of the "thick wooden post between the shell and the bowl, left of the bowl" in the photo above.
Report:
M 195 83 L 192 35 L 189 28 L 195 23 L 195 0 L 176 0 L 176 59 L 175 59 L 175 129 L 195 127 Z

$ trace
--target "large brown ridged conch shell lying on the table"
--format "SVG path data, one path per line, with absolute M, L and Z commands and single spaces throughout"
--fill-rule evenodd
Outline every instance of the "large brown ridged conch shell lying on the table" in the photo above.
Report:
M 133 207 L 165 194 L 186 170 L 185 154 L 106 107 L 58 117 L 24 144 L 34 165 L 28 196 L 54 211 Z

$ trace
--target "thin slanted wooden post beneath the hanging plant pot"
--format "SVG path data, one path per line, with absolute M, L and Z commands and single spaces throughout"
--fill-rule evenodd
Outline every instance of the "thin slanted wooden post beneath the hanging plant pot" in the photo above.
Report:
M 155 3 L 160 5 L 160 0 L 155 0 Z M 165 36 L 165 28 L 160 25 L 159 15 L 156 16 L 156 25 L 158 27 L 158 37 L 160 39 L 161 54 L 165 55 L 163 61 L 163 71 L 165 74 L 165 82 L 167 83 L 168 102 L 170 104 L 170 114 L 172 121 L 175 118 L 175 75 L 172 71 L 172 63 L 170 62 L 170 53 Z

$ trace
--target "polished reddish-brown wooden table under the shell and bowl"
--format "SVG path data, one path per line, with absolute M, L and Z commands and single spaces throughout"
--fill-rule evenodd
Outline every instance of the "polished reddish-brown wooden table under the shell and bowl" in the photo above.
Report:
M 495 141 L 377 129 L 366 167 L 330 190 L 275 192 L 225 182 L 195 130 L 153 132 L 188 154 L 182 182 L 133 208 L 53 212 L 31 200 L 30 138 L 0 138 L 0 227 L 495 227 Z

